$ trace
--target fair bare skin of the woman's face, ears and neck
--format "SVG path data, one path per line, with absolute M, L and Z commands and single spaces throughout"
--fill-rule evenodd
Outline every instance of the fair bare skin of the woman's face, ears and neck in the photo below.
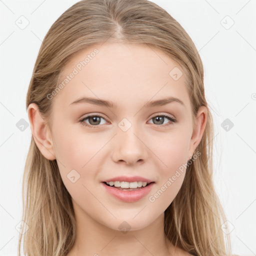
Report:
M 60 81 L 95 47 L 99 52 L 51 99 L 51 126 L 42 119 L 36 104 L 28 107 L 36 145 L 44 157 L 57 159 L 72 197 L 77 233 L 67 255 L 190 255 L 174 248 L 163 229 L 164 210 L 179 191 L 185 171 L 154 202 L 148 197 L 192 157 L 205 129 L 207 110 L 199 108 L 193 130 L 183 70 L 178 67 L 183 75 L 174 80 L 169 72 L 177 64 L 144 45 L 104 43 L 83 49 L 69 60 Z M 81 96 L 111 100 L 117 108 L 84 102 L 70 105 Z M 166 96 L 179 98 L 184 104 L 173 101 L 143 107 L 149 100 Z M 78 121 L 89 113 L 103 116 L 100 123 L 93 124 L 89 118 L 83 121 L 96 128 Z M 177 121 L 164 118 L 160 123 L 152 118 L 162 114 Z M 123 118 L 131 124 L 127 131 L 118 126 Z M 80 175 L 74 183 L 67 178 L 72 169 Z M 117 175 L 140 175 L 155 183 L 139 201 L 123 202 L 100 184 Z M 130 226 L 126 233 L 118 228 L 123 221 Z

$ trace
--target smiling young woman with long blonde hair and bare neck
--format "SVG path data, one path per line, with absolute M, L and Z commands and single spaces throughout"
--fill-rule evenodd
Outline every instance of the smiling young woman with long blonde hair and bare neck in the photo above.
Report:
M 82 0 L 50 27 L 26 98 L 25 255 L 231 255 L 191 38 L 147 0 Z

